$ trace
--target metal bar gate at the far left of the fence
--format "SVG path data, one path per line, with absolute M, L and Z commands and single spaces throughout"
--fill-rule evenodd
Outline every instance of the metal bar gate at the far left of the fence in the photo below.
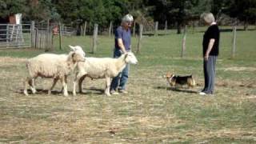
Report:
M 31 24 L 0 24 L 0 49 L 32 47 Z

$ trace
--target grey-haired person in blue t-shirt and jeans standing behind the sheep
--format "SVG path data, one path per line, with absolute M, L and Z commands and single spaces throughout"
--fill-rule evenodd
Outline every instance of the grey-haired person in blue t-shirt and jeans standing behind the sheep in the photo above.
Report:
M 119 58 L 122 54 L 125 54 L 131 50 L 130 45 L 130 27 L 134 22 L 134 18 L 130 14 L 126 14 L 122 18 L 121 26 L 115 30 L 114 34 L 114 58 Z M 127 94 L 126 82 L 128 81 L 129 75 L 129 64 L 126 65 L 125 69 L 122 70 L 117 77 L 113 78 L 110 86 L 111 94 Z M 118 90 L 118 91 L 117 91 Z

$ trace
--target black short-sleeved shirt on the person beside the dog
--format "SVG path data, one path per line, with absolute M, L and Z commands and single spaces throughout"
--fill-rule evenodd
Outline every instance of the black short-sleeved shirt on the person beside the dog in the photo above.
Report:
M 212 50 L 210 50 L 209 55 L 218 56 L 219 30 L 218 30 L 217 25 L 209 26 L 208 29 L 206 30 L 205 34 L 203 35 L 203 41 L 202 41 L 203 56 L 206 55 L 206 50 L 208 48 L 211 38 L 214 38 L 215 42 L 214 42 L 214 46 L 213 46 Z

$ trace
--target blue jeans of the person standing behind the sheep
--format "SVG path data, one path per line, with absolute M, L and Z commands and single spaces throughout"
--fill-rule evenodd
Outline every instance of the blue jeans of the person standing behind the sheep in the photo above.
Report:
M 114 49 L 114 58 L 119 58 L 121 55 L 122 55 L 121 50 Z M 122 70 L 118 74 L 118 76 L 112 79 L 110 90 L 117 90 L 117 88 L 121 90 L 126 90 L 126 82 L 128 81 L 129 69 L 130 69 L 130 65 L 126 64 L 125 69 Z

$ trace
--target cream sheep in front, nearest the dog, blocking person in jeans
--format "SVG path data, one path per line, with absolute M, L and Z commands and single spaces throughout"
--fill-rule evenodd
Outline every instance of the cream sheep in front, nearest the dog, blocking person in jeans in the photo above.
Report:
M 138 60 L 132 52 L 122 54 L 119 58 L 86 58 L 85 62 L 78 62 L 78 72 L 74 77 L 73 95 L 76 95 L 78 82 L 79 92 L 82 93 L 82 81 L 84 78 L 106 78 L 105 94 L 110 96 L 110 80 L 116 77 L 126 64 L 137 64 Z

